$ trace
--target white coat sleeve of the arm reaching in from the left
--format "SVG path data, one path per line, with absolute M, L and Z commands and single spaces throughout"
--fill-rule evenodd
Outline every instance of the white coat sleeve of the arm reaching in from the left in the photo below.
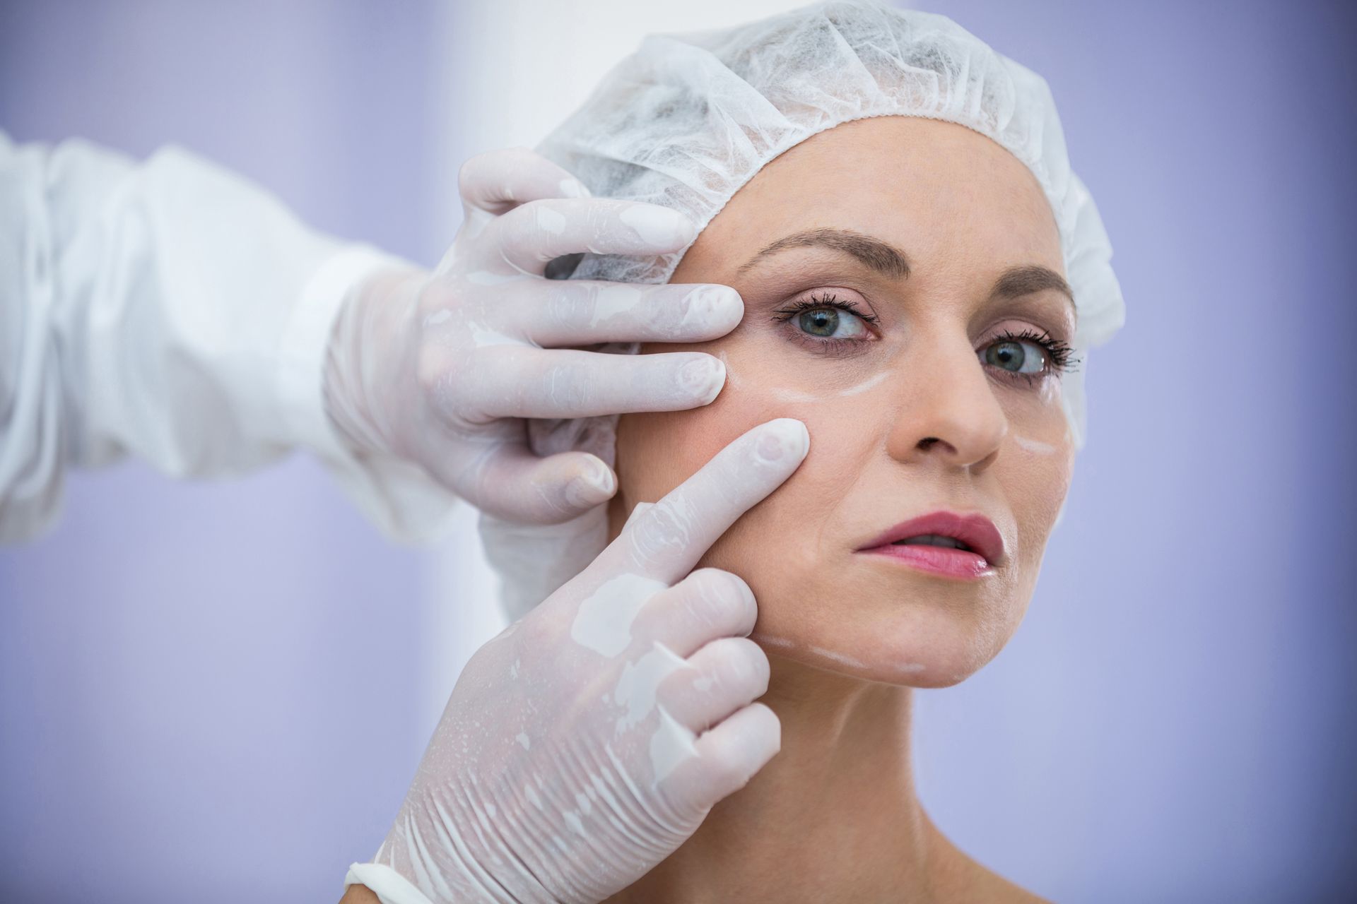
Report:
M 138 164 L 0 133 L 0 541 L 56 519 L 68 466 L 130 454 L 224 477 L 294 447 L 388 535 L 441 534 L 453 497 L 414 465 L 356 455 L 324 411 L 341 304 L 402 266 L 180 149 Z

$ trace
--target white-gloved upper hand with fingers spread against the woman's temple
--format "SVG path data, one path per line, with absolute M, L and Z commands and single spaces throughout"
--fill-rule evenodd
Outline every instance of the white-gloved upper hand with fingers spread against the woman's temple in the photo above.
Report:
M 531 150 L 472 157 L 460 187 L 465 221 L 434 274 L 384 271 L 345 301 L 326 407 L 360 454 L 414 462 L 491 515 L 567 520 L 609 499 L 616 476 L 585 451 L 536 457 L 522 419 L 696 408 L 725 382 L 703 352 L 574 347 L 706 342 L 744 304 L 727 286 L 546 279 L 558 256 L 668 253 L 696 229 L 666 207 L 589 198 Z

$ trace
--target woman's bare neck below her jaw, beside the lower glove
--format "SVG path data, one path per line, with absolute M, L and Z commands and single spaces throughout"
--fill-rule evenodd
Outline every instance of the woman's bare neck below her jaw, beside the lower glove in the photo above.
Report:
M 911 689 L 769 661 L 782 752 L 609 901 L 950 897 L 963 866 L 915 794 Z

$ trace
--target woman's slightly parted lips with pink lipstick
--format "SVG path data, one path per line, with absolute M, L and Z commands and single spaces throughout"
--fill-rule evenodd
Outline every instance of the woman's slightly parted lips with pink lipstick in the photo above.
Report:
M 976 580 L 1003 564 L 1004 541 L 984 515 L 939 511 L 896 525 L 856 552 L 944 577 Z

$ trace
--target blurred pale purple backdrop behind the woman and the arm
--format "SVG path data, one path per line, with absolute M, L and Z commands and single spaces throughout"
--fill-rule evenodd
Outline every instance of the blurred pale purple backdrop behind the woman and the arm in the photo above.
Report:
M 917 695 L 924 802 L 1060 900 L 1343 900 L 1352 7 L 920 5 L 1052 84 L 1128 301 L 1027 622 Z M 11 0 L 0 127 L 175 141 L 432 263 L 442 64 L 479 39 L 446 23 L 433 3 Z M 303 458 L 231 484 L 76 476 L 54 533 L 0 552 L 0 900 L 338 899 L 430 729 L 433 571 Z

